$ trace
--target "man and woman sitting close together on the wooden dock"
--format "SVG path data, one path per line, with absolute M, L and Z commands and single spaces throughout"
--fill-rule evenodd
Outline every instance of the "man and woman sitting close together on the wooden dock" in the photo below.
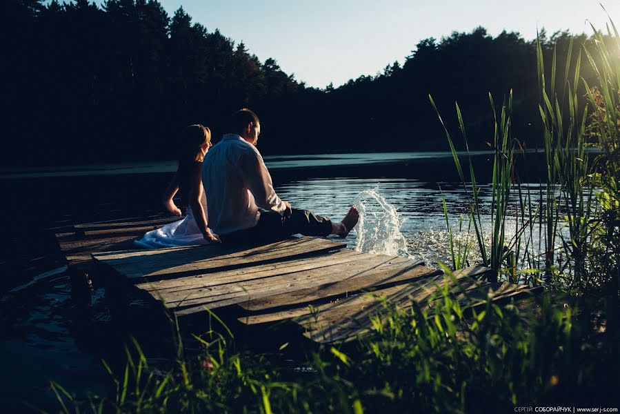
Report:
M 335 222 L 292 208 L 278 197 L 256 148 L 261 124 L 254 112 L 235 112 L 228 128 L 230 133 L 212 148 L 208 128 L 192 125 L 183 130 L 179 168 L 163 202 L 170 213 L 180 216 L 181 210 L 172 201 L 180 193 L 187 215 L 146 233 L 138 244 L 149 248 L 214 242 L 266 244 L 295 234 L 346 237 L 357 224 L 355 207 Z

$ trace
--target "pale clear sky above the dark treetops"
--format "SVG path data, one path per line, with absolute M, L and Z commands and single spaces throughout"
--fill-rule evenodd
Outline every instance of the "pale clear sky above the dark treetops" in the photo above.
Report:
M 179 6 L 192 21 L 243 41 L 261 61 L 269 57 L 308 86 L 334 87 L 403 63 L 421 39 L 483 26 L 536 37 L 570 30 L 591 34 L 588 21 L 620 26 L 620 0 L 159 0 L 172 16 Z M 101 3 L 101 0 L 97 1 Z

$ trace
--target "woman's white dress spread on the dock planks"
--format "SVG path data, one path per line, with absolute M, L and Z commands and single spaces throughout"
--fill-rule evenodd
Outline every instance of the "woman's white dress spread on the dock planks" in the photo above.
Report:
M 203 193 L 201 204 L 206 208 L 206 197 Z M 188 207 L 185 218 L 166 224 L 156 230 L 151 230 L 144 237 L 134 242 L 142 248 L 161 248 L 175 246 L 192 246 L 196 244 L 209 244 L 196 224 L 192 209 Z

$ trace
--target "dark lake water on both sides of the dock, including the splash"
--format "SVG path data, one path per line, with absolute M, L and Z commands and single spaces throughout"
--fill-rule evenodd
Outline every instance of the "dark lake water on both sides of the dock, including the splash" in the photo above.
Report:
M 491 157 L 475 154 L 481 182 L 488 182 Z M 528 162 L 531 176 L 522 181 L 536 189 L 535 168 L 543 164 L 537 155 Z M 359 206 L 363 222 L 346 242 L 363 251 L 406 255 L 430 266 L 437 259 L 448 261 L 441 195 L 452 228 L 467 212 L 448 152 L 266 157 L 266 164 L 277 193 L 294 207 L 340 219 L 353 203 Z M 57 408 L 51 380 L 81 396 L 105 395 L 110 380 L 101 359 L 121 360 L 129 335 L 159 344 L 151 357 L 165 359 L 161 343 L 170 332 L 151 320 L 150 305 L 132 302 L 119 326 L 103 288 L 94 286 L 82 303 L 72 295 L 53 237 L 43 229 L 157 215 L 172 171 L 174 163 L 162 161 L 0 172 L 0 190 L 8 195 L 3 204 L 8 244 L 0 258 L 0 393 L 9 411 L 23 408 L 22 402 Z M 488 203 L 488 185 L 481 188 Z

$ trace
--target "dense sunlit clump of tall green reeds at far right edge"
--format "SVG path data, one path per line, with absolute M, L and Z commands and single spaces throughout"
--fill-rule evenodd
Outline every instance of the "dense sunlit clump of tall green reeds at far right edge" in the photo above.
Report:
M 603 288 L 617 296 L 620 237 L 614 217 L 618 217 L 620 204 L 620 38 L 611 19 L 609 24 L 613 32 L 608 27 L 607 36 L 592 26 L 593 41 L 581 45 L 574 62 L 570 43 L 561 88 L 556 88 L 554 81 L 556 50 L 550 84 L 545 82 L 540 41 L 537 61 L 546 154 L 548 160 L 553 160 L 546 188 L 559 186 L 560 193 L 558 200 L 553 199 L 557 208 L 546 208 L 546 237 L 547 241 L 552 237 L 561 239 L 560 252 L 565 257 L 563 262 L 557 260 L 554 268 L 553 255 L 558 248 L 548 242 L 546 275 L 557 275 L 562 288 L 577 293 Z M 582 52 L 595 75 L 593 86 L 581 73 Z M 586 151 L 589 145 L 600 152 L 594 161 Z M 548 192 L 547 206 L 552 204 L 550 197 Z M 563 221 L 563 226 L 552 228 L 549 223 L 557 223 L 557 219 Z M 607 288 L 610 283 L 612 290 Z

